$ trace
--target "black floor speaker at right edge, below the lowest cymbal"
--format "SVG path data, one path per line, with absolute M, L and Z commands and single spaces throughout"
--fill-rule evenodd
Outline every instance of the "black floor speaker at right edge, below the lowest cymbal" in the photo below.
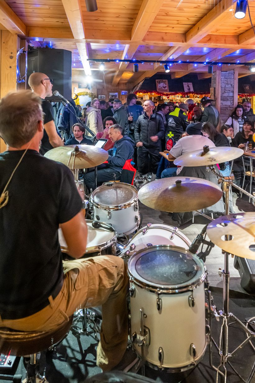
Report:
M 251 245 L 250 250 L 255 251 L 255 245 Z M 234 268 L 239 271 L 242 288 L 248 293 L 255 295 L 255 260 L 235 255 Z

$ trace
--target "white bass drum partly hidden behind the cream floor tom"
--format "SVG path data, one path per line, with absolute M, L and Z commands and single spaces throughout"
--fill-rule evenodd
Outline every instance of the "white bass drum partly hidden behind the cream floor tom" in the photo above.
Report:
M 124 246 L 119 257 L 126 259 L 131 257 L 134 252 L 154 245 L 172 245 L 188 249 L 191 242 L 177 227 L 161 223 L 148 223 L 147 226 L 135 233 L 131 241 Z

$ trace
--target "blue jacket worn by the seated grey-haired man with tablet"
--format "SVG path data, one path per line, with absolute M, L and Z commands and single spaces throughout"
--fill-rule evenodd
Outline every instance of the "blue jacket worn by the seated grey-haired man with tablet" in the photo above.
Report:
M 119 172 L 127 160 L 133 158 L 135 142 L 128 136 L 123 136 L 114 143 L 114 147 L 108 150 L 109 157 L 107 159 L 107 168 L 115 169 Z

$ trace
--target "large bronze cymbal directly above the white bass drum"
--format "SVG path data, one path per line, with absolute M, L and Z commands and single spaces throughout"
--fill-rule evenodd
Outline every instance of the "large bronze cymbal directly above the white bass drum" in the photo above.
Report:
M 221 196 L 217 185 L 194 177 L 162 178 L 147 183 L 138 191 L 138 198 L 144 205 L 172 213 L 207 208 Z

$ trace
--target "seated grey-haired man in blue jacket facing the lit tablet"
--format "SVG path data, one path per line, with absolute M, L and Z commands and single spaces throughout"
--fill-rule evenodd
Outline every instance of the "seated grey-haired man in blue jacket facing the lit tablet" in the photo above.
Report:
M 135 142 L 128 136 L 123 136 L 122 131 L 123 129 L 119 124 L 114 124 L 109 128 L 109 138 L 114 142 L 114 147 L 108 150 L 108 164 L 102 164 L 97 168 L 98 185 L 106 181 L 120 180 L 125 162 L 133 158 Z M 84 183 L 88 190 L 94 190 L 94 170 L 85 174 Z

